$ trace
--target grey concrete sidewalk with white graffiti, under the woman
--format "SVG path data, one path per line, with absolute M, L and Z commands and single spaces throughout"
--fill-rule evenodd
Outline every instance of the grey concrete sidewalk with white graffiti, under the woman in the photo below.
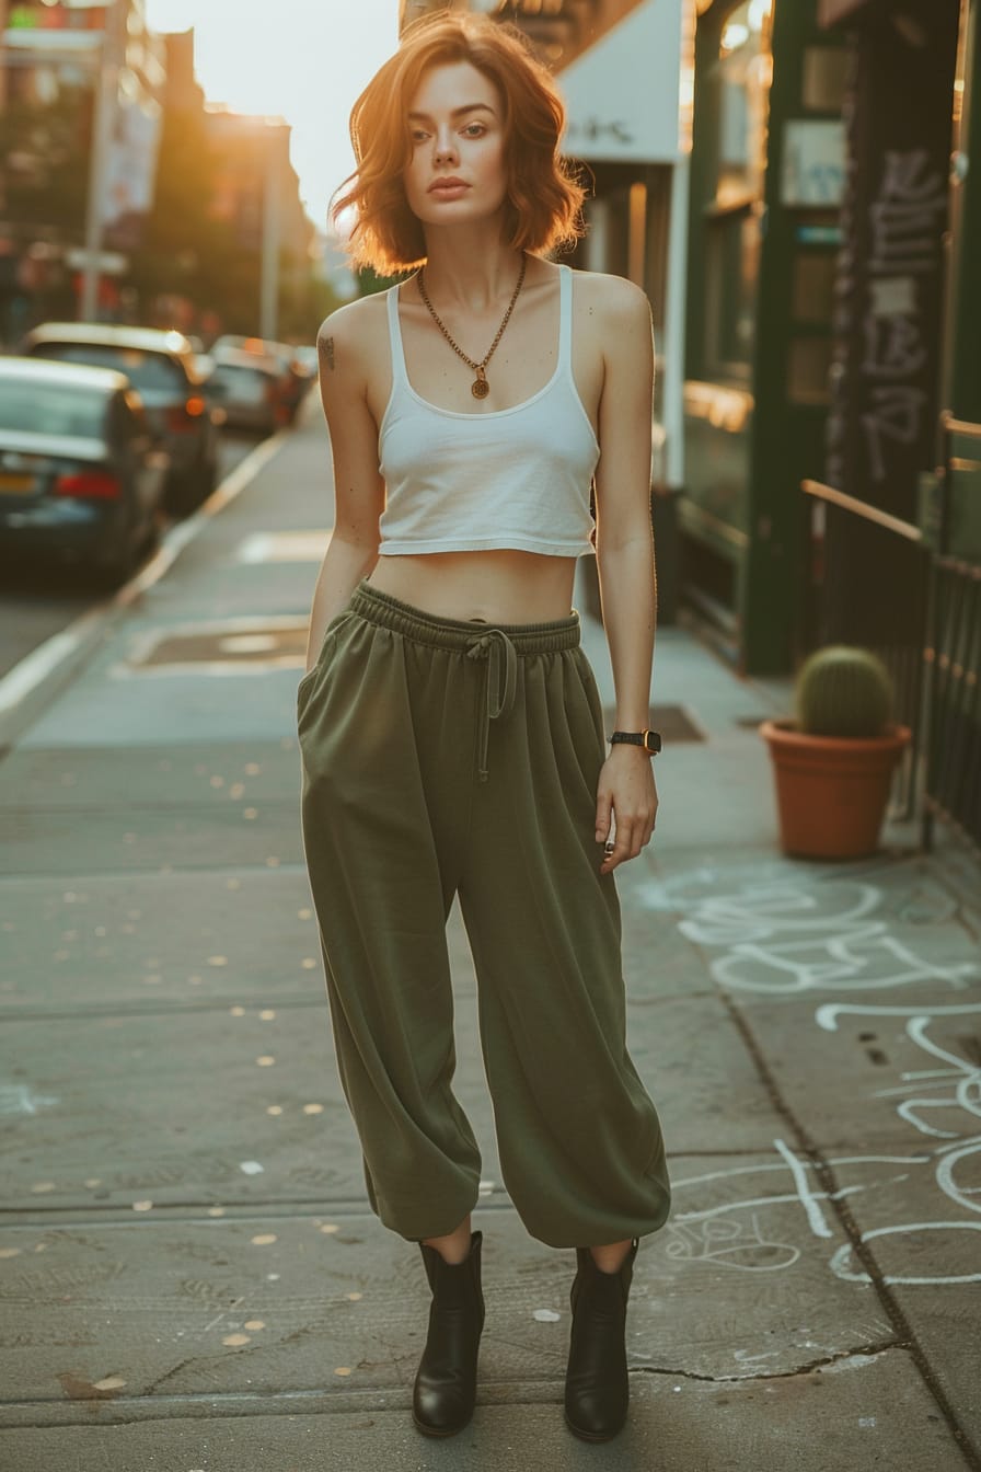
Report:
M 365 1203 L 297 820 L 328 486 L 312 412 L 0 762 L 0 1468 L 981 1468 L 978 867 L 905 830 L 860 866 L 781 858 L 755 723 L 787 689 L 684 630 L 657 642 L 656 843 L 619 879 L 675 1185 L 629 1425 L 563 1428 L 574 1254 L 500 1183 L 453 916 L 487 1326 L 472 1425 L 415 1432 L 428 1289 Z

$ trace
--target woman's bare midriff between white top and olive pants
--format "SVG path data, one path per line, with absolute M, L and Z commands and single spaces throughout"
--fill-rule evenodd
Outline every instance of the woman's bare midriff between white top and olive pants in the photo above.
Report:
M 379 556 L 368 581 L 437 618 L 544 624 L 572 609 L 575 558 L 512 549 Z

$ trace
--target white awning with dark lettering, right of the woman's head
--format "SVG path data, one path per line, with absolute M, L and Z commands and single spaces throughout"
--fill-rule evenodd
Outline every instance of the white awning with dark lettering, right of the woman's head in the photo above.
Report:
M 569 112 L 566 153 L 597 163 L 681 156 L 690 84 L 684 9 L 684 0 L 643 0 L 557 74 Z

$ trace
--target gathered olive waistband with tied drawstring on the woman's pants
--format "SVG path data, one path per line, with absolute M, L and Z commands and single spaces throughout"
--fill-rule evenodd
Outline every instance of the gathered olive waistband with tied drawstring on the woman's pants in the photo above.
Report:
M 491 721 L 506 718 L 518 692 L 518 661 L 535 654 L 559 654 L 579 643 L 579 615 L 543 624 L 482 624 L 475 620 L 440 618 L 412 604 L 403 604 L 362 581 L 347 605 L 353 614 L 391 629 L 416 643 L 457 651 L 468 659 L 485 659 L 479 711 L 478 780 L 487 782 Z

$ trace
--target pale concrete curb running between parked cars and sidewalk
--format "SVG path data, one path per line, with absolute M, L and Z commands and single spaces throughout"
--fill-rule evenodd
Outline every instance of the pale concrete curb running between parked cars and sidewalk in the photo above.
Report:
M 124 583 L 112 598 L 87 609 L 60 633 L 46 639 L 0 679 L 0 760 L 82 673 L 116 624 L 147 589 L 171 571 L 184 548 L 204 530 L 212 517 L 229 506 L 279 453 L 288 434 L 288 430 L 277 430 L 257 445 L 191 517 L 171 527 L 147 565 Z

